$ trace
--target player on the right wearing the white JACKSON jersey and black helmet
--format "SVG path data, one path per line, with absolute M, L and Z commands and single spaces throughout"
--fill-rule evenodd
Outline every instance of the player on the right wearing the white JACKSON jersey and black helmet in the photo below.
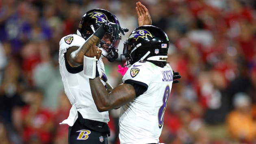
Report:
M 109 93 L 97 70 L 95 78 L 89 80 L 98 111 L 121 107 L 120 144 L 159 144 L 174 81 L 173 70 L 166 61 L 168 48 L 169 38 L 163 30 L 152 25 L 140 26 L 124 43 L 128 67 L 124 83 Z

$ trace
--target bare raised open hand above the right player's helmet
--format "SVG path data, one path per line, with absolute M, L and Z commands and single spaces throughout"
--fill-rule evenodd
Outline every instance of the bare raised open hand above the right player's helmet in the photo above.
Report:
M 136 2 L 135 9 L 136 9 L 136 12 L 138 15 L 139 26 L 152 25 L 152 19 L 151 19 L 150 13 L 148 11 L 148 8 L 146 8 L 146 6 L 141 4 L 141 2 Z

